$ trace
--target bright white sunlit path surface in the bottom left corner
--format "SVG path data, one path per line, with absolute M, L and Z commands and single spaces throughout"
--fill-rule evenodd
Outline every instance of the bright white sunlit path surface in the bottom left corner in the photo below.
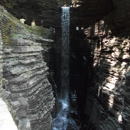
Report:
M 0 98 L 0 130 L 18 130 L 2 98 Z

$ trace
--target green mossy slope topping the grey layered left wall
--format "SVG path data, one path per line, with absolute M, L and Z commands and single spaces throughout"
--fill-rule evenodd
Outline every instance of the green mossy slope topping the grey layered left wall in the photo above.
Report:
M 4 15 L 3 15 L 4 14 Z M 43 38 L 51 37 L 51 31 L 49 29 L 35 26 L 31 27 L 26 24 L 22 24 L 17 18 L 8 13 L 7 11 L 3 11 L 0 7 L 0 16 L 1 16 L 1 32 L 2 39 L 4 44 L 10 44 L 10 38 L 16 35 L 20 36 L 26 33 L 31 33 L 35 35 L 42 36 Z

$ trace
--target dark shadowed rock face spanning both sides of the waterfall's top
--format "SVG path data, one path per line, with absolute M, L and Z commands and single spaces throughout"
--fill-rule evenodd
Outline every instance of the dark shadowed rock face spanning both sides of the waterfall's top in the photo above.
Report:
M 114 8 L 112 0 L 10 0 L 9 2 L 2 0 L 1 3 L 18 19 L 24 16 L 28 25 L 34 19 L 36 24 L 41 26 L 41 20 L 43 20 L 44 27 L 54 27 L 58 31 L 61 27 L 60 7 L 65 3 L 72 7 L 71 30 L 77 25 L 87 27 L 94 24 Z

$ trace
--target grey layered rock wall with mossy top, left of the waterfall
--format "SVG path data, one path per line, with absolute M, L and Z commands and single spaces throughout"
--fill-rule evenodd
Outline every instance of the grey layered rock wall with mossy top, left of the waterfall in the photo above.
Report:
M 19 130 L 50 130 L 55 99 L 47 78 L 49 68 L 42 56 L 48 50 L 46 44 L 53 42 L 43 38 L 49 36 L 49 31 L 21 24 L 1 7 L 0 30 L 0 48 L 3 43 L 3 73 L 1 70 L 0 76 L 2 78 L 3 74 L 4 81 L 1 95 Z M 2 66 L 2 60 L 0 63 Z

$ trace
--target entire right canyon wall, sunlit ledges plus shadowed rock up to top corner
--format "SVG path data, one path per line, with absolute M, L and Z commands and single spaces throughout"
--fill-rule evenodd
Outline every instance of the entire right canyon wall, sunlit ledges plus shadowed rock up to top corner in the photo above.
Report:
M 85 29 L 94 68 L 86 103 L 87 128 L 90 130 L 130 129 L 130 2 L 116 1 L 115 5 L 112 13 Z

